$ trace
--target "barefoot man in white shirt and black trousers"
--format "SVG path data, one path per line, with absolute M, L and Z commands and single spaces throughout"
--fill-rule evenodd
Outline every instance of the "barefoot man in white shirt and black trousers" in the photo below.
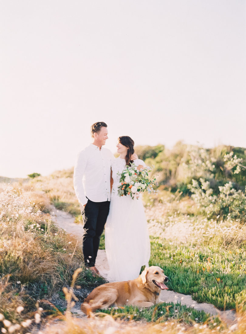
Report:
M 91 126 L 93 143 L 78 154 L 74 168 L 74 189 L 84 214 L 83 253 L 85 266 L 93 275 L 99 271 L 95 261 L 100 236 L 109 213 L 111 161 L 110 150 L 102 147 L 108 139 L 107 124 L 96 122 Z

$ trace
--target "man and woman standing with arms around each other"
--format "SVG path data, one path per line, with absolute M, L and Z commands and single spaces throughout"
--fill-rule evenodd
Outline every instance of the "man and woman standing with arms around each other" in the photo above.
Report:
M 95 261 L 105 226 L 105 250 L 109 281 L 128 281 L 148 267 L 150 242 L 141 199 L 119 196 L 120 174 L 132 163 L 141 170 L 144 162 L 134 153 L 134 141 L 118 138 L 115 158 L 103 147 L 108 139 L 107 124 L 91 126 L 93 142 L 78 155 L 74 168 L 74 189 L 84 219 L 83 254 L 85 266 L 100 274 Z

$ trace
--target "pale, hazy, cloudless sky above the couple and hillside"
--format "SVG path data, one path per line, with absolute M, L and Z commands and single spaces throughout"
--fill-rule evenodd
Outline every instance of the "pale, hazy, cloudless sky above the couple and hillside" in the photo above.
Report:
M 0 176 L 74 166 L 105 147 L 246 147 L 246 2 L 0 2 Z

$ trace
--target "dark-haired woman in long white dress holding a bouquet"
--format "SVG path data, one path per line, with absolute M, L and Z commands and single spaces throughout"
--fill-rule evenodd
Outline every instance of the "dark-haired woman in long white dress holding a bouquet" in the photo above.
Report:
M 128 281 L 138 277 L 141 267 L 147 266 L 150 242 L 147 221 L 141 198 L 119 196 L 120 175 L 126 166 L 134 163 L 138 170 L 145 166 L 140 160 L 130 160 L 134 141 L 128 136 L 118 138 L 117 152 L 111 167 L 112 191 L 109 215 L 105 228 L 105 250 L 109 263 L 109 281 Z

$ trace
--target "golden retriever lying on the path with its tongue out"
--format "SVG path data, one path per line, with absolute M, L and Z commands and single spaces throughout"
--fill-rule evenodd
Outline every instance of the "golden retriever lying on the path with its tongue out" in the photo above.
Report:
M 168 289 L 164 284 L 167 281 L 168 277 L 160 267 L 145 268 L 135 280 L 106 283 L 95 288 L 84 300 L 81 310 L 89 314 L 111 306 L 150 307 L 162 303 L 160 291 Z

